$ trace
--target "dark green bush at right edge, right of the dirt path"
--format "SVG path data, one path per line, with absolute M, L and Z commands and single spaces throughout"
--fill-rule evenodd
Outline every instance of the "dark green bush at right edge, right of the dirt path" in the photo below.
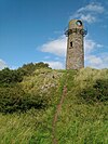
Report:
M 108 79 L 97 79 L 94 84 L 82 89 L 80 96 L 86 102 L 108 101 Z

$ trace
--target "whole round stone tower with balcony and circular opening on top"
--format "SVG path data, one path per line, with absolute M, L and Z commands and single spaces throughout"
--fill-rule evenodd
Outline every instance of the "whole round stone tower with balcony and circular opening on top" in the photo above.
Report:
M 71 19 L 68 30 L 65 32 L 67 39 L 66 69 L 80 69 L 84 67 L 83 37 L 86 30 L 80 19 Z

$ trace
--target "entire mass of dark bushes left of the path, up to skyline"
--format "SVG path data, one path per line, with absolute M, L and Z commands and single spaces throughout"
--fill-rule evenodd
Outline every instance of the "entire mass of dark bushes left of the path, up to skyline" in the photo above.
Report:
M 35 70 L 40 68 L 51 69 L 49 68 L 49 65 L 44 63 L 30 63 L 15 70 L 4 68 L 0 71 L 1 113 L 26 112 L 30 108 L 44 109 L 48 106 L 48 99 L 45 94 L 39 92 L 28 92 L 22 88 L 24 77 L 32 77 Z

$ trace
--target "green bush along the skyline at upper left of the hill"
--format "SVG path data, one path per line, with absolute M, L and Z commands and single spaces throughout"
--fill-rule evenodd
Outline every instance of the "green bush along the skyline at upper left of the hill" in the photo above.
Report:
M 4 68 L 0 70 L 0 87 L 10 87 L 23 81 L 24 76 L 32 75 L 32 73 L 38 68 L 50 68 L 49 64 L 40 63 L 29 63 L 24 64 L 23 67 L 18 69 Z

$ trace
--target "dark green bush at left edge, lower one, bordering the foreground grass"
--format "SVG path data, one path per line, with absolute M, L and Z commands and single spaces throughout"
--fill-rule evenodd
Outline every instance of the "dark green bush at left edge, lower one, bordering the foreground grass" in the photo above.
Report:
M 25 93 L 21 87 L 0 88 L 0 112 L 26 112 L 30 108 L 45 108 L 46 100 L 39 94 Z

